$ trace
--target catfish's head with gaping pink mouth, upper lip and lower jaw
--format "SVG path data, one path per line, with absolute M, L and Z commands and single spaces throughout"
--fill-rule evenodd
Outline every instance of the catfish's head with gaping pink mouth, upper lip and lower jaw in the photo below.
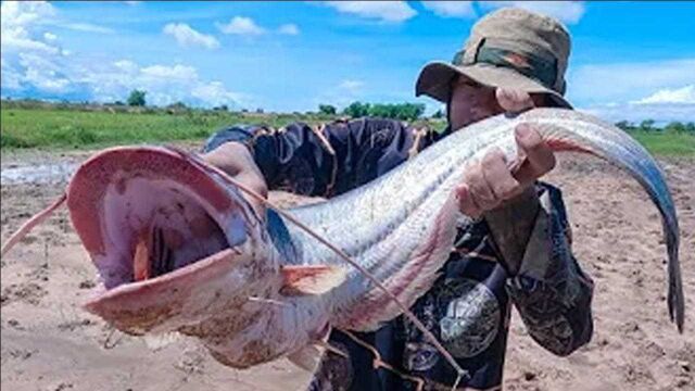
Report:
M 101 280 L 85 307 L 124 332 L 191 327 L 278 289 L 263 219 L 187 153 L 105 150 L 75 173 L 67 206 Z

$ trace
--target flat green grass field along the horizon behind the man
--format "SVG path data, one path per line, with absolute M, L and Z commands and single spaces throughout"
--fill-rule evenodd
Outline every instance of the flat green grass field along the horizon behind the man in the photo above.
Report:
M 213 131 L 232 124 L 264 124 L 281 127 L 291 122 L 312 125 L 332 119 L 316 114 L 255 114 L 190 110 L 167 113 L 34 109 L 3 104 L 0 141 L 7 149 L 94 149 L 116 144 L 202 141 Z M 442 128 L 442 122 L 430 122 Z M 687 133 L 631 131 L 652 153 L 695 156 L 695 135 Z

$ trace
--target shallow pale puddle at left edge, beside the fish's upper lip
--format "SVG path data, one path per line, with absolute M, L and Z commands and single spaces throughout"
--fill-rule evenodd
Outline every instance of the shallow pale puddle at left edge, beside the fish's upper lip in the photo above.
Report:
M 77 163 L 35 164 L 0 169 L 0 185 L 64 184 L 79 167 Z

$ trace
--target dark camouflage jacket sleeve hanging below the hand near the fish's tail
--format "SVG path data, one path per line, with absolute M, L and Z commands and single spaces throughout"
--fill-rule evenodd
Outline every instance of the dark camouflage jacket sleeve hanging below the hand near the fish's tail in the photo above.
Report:
M 571 251 L 571 230 L 560 191 L 540 184 L 541 207 L 518 274 L 507 292 L 531 337 L 557 355 L 591 340 L 593 281 Z

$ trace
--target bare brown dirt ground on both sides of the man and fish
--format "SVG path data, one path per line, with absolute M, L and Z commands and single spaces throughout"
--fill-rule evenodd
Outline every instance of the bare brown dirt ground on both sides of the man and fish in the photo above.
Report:
M 7 155 L 2 168 L 84 156 Z M 684 333 L 668 320 L 657 210 L 622 172 L 567 155 L 547 180 L 564 190 L 576 255 L 596 283 L 594 337 L 569 357 L 556 357 L 531 340 L 515 314 L 506 390 L 695 389 L 695 161 L 661 164 L 681 224 Z M 3 185 L 3 242 L 62 189 Z M 94 268 L 64 210 L 5 256 L 1 272 L 3 390 L 300 390 L 308 379 L 285 360 L 243 371 L 224 367 L 193 340 L 154 351 L 83 311 Z

